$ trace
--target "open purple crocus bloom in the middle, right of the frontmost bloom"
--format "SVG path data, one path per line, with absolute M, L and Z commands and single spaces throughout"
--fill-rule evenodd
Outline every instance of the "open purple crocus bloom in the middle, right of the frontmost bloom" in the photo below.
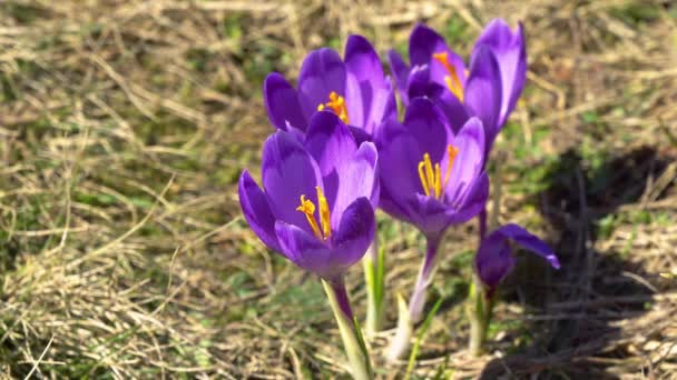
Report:
M 433 102 L 410 102 L 404 123 L 387 121 L 375 137 L 380 156 L 380 207 L 416 226 L 428 238 L 462 223 L 483 209 L 484 131 L 471 118 L 453 133 Z

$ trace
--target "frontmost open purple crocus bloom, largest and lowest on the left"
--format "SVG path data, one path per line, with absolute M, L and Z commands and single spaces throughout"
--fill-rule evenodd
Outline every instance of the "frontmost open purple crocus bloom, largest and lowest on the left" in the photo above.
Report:
M 374 238 L 376 150 L 357 147 L 333 112 L 311 118 L 303 141 L 277 131 L 264 146 L 263 189 L 245 170 L 239 203 L 256 236 L 296 266 L 334 280 Z

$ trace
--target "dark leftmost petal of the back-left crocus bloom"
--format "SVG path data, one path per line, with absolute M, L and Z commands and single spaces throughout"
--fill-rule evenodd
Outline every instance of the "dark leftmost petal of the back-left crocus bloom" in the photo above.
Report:
M 298 102 L 296 90 L 277 72 L 269 73 L 263 83 L 263 99 L 266 113 L 273 126 L 288 130 L 292 126 L 305 131 L 306 119 Z

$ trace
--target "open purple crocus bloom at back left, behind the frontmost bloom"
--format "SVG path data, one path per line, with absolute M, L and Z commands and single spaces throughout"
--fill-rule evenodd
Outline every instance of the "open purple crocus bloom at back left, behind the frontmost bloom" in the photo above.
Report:
M 263 93 L 271 122 L 283 131 L 304 133 L 315 112 L 330 110 L 362 141 L 383 120 L 396 118 L 394 91 L 371 43 L 351 36 L 344 58 L 330 48 L 312 51 L 301 67 L 298 90 L 282 74 L 268 74 Z

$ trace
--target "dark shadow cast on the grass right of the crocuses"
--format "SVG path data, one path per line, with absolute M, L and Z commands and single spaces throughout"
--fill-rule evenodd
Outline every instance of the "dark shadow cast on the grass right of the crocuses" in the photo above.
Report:
M 518 266 L 503 282 L 500 301 L 520 304 L 539 318 L 528 320 L 519 332 L 508 332 L 501 341 L 526 343 L 506 349 L 506 358 L 489 362 L 481 379 L 532 373 L 616 378 L 607 371 L 611 360 L 605 361 L 624 357 L 620 344 L 615 344 L 624 337 L 614 322 L 646 312 L 653 292 L 637 279 L 656 274 L 628 260 L 631 252 L 626 250 L 597 251 L 596 241 L 610 233 L 621 206 L 642 204 L 647 183 L 650 187 L 671 160 L 641 147 L 591 166 L 569 150 L 552 166 L 550 184 L 536 203 L 551 231 L 542 238 L 556 249 L 561 269 L 555 271 L 542 259 L 518 252 Z

